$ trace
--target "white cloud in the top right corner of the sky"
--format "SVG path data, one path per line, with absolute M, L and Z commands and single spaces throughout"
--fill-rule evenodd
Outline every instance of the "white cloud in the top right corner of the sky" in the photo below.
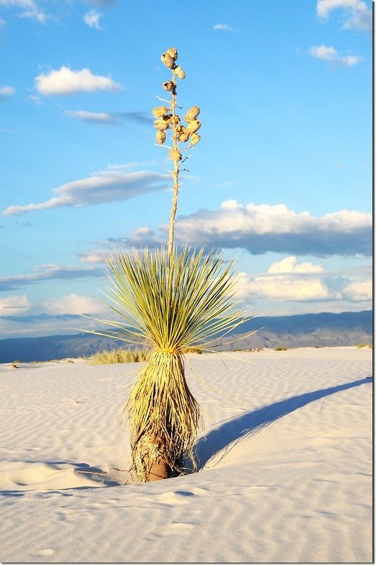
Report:
M 345 29 L 371 31 L 372 15 L 364 1 L 361 0 L 318 0 L 317 15 L 327 20 L 330 13 L 336 9 L 344 11 Z

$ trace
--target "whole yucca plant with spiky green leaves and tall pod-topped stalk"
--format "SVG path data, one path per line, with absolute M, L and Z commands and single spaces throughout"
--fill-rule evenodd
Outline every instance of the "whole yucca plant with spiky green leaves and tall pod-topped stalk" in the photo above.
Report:
M 149 347 L 124 405 L 131 431 L 132 470 L 141 482 L 184 473 L 187 462 L 195 470 L 193 447 L 200 411 L 185 379 L 184 352 L 198 347 L 210 350 L 219 335 L 245 320 L 234 308 L 233 264 L 224 262 L 218 252 L 204 253 L 204 248 L 189 246 L 178 249 L 174 244 L 182 151 L 198 143 L 201 125 L 197 106 L 186 113 L 187 125 L 181 125 L 176 112 L 175 79 L 185 77 L 177 58 L 175 47 L 161 57 L 172 71 L 171 79 L 163 83 L 171 99 L 162 100 L 168 106 L 152 111 L 157 143 L 163 145 L 167 135 L 172 140 L 171 146 L 165 146 L 173 161 L 168 246 L 119 250 L 108 260 L 108 306 L 121 322 L 102 320 L 114 330 L 94 331 Z

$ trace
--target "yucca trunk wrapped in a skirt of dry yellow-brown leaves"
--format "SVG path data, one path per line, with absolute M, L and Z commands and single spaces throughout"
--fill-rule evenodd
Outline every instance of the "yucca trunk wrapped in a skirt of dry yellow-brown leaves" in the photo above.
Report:
M 131 426 L 133 470 L 139 482 L 182 471 L 196 441 L 199 406 L 185 380 L 181 354 L 153 352 L 125 410 Z

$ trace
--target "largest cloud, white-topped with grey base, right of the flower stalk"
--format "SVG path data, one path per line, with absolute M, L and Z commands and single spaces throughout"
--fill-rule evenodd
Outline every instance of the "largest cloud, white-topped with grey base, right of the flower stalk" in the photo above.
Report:
M 371 214 L 340 210 L 316 217 L 285 204 L 244 207 L 228 200 L 219 210 L 200 209 L 179 216 L 175 234 L 180 243 L 243 248 L 252 254 L 370 255 Z

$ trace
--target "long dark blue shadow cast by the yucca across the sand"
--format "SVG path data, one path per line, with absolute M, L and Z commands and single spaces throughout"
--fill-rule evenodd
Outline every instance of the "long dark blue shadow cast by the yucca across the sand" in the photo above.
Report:
M 197 442 L 197 468 L 199 470 L 204 468 L 207 462 L 220 451 L 227 448 L 231 449 L 244 437 L 249 434 L 257 434 L 260 429 L 276 422 L 284 415 L 288 415 L 290 412 L 312 403 L 312 401 L 322 399 L 338 391 L 366 385 L 366 383 L 371 383 L 371 378 L 358 379 L 343 385 L 296 395 L 250 412 L 244 412 L 239 417 L 223 422 L 218 428 L 211 430 L 206 437 L 202 437 Z

